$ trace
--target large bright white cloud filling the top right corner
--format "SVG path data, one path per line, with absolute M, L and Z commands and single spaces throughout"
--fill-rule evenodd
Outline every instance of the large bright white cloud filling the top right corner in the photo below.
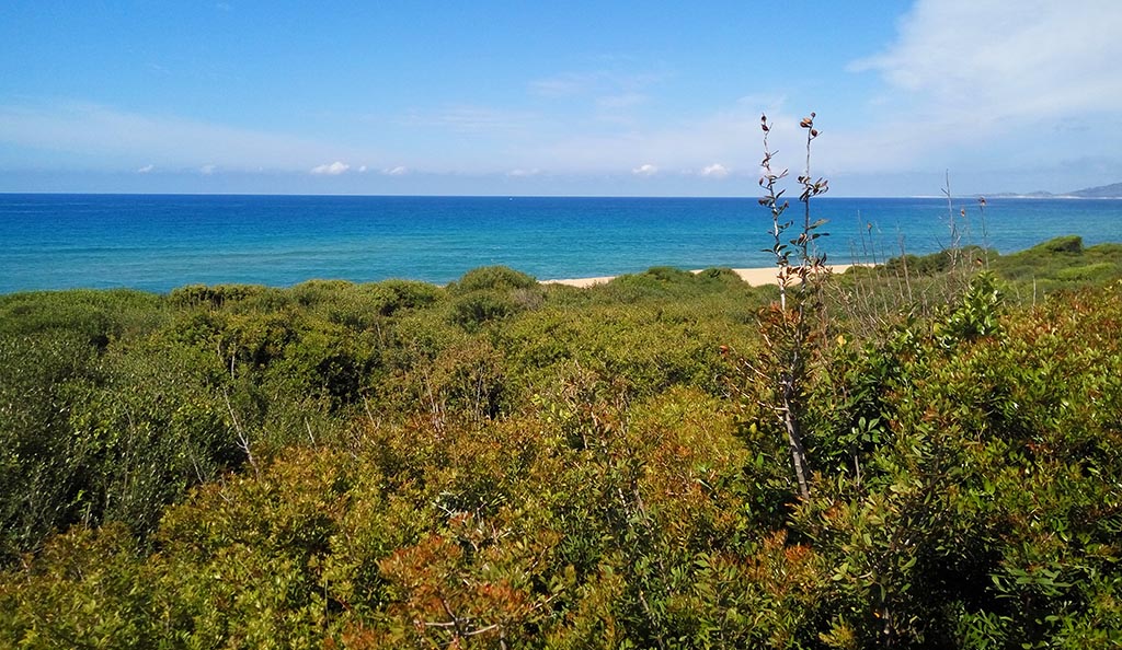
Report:
M 920 0 L 899 39 L 852 68 L 994 117 L 1116 109 L 1119 34 L 1116 0 Z

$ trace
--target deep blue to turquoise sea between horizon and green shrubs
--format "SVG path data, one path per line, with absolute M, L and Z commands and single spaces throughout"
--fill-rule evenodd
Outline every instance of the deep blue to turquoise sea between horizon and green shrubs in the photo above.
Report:
M 792 204 L 788 216 L 801 219 L 800 210 Z M 812 211 L 829 220 L 830 236 L 819 241 L 838 263 L 950 242 L 944 198 L 822 197 Z M 962 243 L 1003 253 L 1063 234 L 1122 242 L 1122 201 L 994 198 L 983 215 L 962 198 L 953 213 Z M 0 292 L 313 278 L 443 284 L 487 264 L 539 279 L 766 267 L 770 225 L 754 197 L 0 194 Z

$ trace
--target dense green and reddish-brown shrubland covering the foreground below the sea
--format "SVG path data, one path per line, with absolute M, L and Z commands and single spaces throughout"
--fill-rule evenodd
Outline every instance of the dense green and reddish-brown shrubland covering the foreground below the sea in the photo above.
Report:
M 0 646 L 1122 644 L 1122 256 L 0 297 Z M 911 294 L 909 295 L 909 291 Z

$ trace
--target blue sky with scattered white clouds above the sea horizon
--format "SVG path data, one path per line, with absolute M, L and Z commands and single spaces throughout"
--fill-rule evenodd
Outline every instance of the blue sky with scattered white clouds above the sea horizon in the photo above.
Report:
M 0 7 L 0 192 L 848 196 L 1122 180 L 1122 2 Z

